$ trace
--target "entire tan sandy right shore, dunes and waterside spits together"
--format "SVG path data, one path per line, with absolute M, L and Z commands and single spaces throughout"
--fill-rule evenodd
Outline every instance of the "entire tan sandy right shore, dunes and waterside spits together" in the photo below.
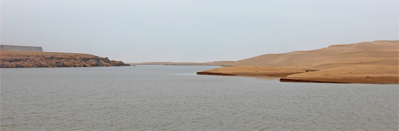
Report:
M 273 76 L 290 82 L 399 84 L 399 41 L 331 45 L 311 51 L 266 54 L 221 64 L 236 67 L 205 70 L 198 74 Z M 253 70 L 253 66 L 261 69 L 245 72 Z M 276 70 L 270 71 L 271 66 Z M 294 73 L 291 71 L 295 70 L 288 71 L 287 68 L 309 72 Z M 282 74 L 276 75 L 278 72 Z

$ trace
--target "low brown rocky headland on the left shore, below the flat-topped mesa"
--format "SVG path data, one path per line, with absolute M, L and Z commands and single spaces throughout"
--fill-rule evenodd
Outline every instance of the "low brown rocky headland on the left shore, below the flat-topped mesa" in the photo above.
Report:
M 130 66 L 122 61 L 111 61 L 108 57 L 98 57 L 80 53 L 53 53 L 36 51 L 1 51 L 0 67 L 93 67 Z

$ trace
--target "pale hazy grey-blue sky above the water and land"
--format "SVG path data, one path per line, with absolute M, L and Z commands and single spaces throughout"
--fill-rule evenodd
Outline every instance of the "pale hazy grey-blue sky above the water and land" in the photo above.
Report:
M 0 1 L 0 42 L 127 62 L 238 61 L 399 39 L 395 1 Z

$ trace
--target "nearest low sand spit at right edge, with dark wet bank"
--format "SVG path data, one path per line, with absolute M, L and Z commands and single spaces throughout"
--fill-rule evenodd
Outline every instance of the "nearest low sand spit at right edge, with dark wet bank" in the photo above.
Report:
M 343 82 L 363 84 L 399 84 L 399 66 L 355 65 L 340 66 L 288 75 L 280 81 L 291 82 Z

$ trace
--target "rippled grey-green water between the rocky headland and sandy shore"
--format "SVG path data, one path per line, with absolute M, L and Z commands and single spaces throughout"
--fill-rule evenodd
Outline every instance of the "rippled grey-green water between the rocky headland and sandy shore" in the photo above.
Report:
M 1 130 L 399 130 L 398 85 L 195 74 L 219 67 L 1 68 Z

